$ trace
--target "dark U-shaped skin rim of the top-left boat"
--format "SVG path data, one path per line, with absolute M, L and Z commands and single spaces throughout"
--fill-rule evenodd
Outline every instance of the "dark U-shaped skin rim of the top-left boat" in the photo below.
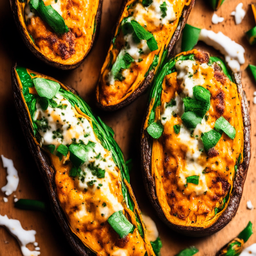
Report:
M 92 47 L 94 46 L 94 42 L 96 41 L 96 39 L 98 38 L 99 35 L 99 30 L 100 30 L 100 21 L 101 21 L 101 13 L 102 13 L 102 2 L 103 0 L 99 0 L 99 5 L 98 5 L 98 9 L 97 9 L 97 13 L 95 15 L 95 25 L 96 25 L 96 31 L 92 36 L 92 41 L 91 41 L 91 46 L 88 49 L 88 51 L 86 52 L 86 54 L 84 55 L 83 59 L 74 63 L 74 64 L 61 64 L 58 63 L 56 61 L 51 60 L 50 58 L 48 58 L 46 55 L 44 55 L 43 53 L 41 53 L 39 50 L 37 50 L 31 43 L 30 43 L 30 37 L 28 35 L 28 31 L 26 29 L 26 27 L 23 27 L 19 21 L 18 18 L 18 0 L 10 0 L 10 5 L 11 5 L 11 11 L 14 17 L 14 21 L 16 24 L 16 27 L 19 31 L 19 34 L 23 40 L 23 42 L 25 43 L 25 45 L 28 47 L 28 49 L 40 60 L 42 60 L 43 62 L 45 62 L 46 64 L 58 68 L 58 69 L 62 69 L 62 70 L 69 70 L 69 69 L 74 69 L 77 68 L 78 66 L 80 66 L 80 64 L 84 61 L 84 59 L 87 57 L 87 55 L 89 54 L 89 52 L 92 50 Z

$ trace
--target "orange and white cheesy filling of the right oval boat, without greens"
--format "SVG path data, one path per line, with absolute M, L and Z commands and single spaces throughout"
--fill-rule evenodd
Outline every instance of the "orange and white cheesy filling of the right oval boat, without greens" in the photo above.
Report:
M 164 132 L 153 140 L 152 176 L 168 220 L 179 225 L 207 227 L 221 214 L 215 215 L 214 208 L 222 206 L 229 187 L 232 189 L 236 159 L 243 152 L 241 97 L 236 84 L 206 63 L 177 61 L 175 68 L 177 72 L 164 78 L 161 106 L 156 109 L 156 119 L 161 120 Z M 210 91 L 211 106 L 201 124 L 189 130 L 180 118 L 184 113 L 182 98 L 194 98 L 195 85 Z M 176 106 L 166 106 L 173 98 Z M 213 129 L 221 115 L 235 127 L 236 136 L 232 140 L 223 132 L 214 147 L 215 155 L 207 155 L 201 134 Z M 181 126 L 178 134 L 173 128 L 176 124 Z M 186 184 L 186 177 L 192 175 L 199 176 L 198 185 Z

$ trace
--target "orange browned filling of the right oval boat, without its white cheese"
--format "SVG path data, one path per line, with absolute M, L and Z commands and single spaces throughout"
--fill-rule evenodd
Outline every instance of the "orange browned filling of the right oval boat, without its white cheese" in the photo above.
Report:
M 200 69 L 200 65 L 204 65 L 204 68 Z M 184 171 L 189 164 L 186 159 L 187 154 L 190 153 L 190 143 L 193 141 L 183 141 L 180 134 L 174 132 L 175 124 L 182 126 L 179 115 L 177 117 L 172 115 L 164 124 L 162 136 L 153 139 L 152 146 L 152 176 L 155 179 L 159 203 L 167 219 L 174 224 L 195 227 L 210 226 L 220 216 L 221 212 L 215 215 L 214 208 L 221 206 L 223 198 L 230 189 L 232 190 L 236 159 L 243 152 L 241 96 L 237 86 L 229 81 L 217 65 L 214 67 L 206 65 L 196 59 L 196 65 L 193 66 L 193 78 L 202 81 L 198 85 L 211 93 L 211 106 L 206 113 L 208 119 L 204 119 L 202 123 L 213 129 L 215 121 L 223 116 L 236 129 L 234 140 L 223 132 L 216 146 L 208 153 L 204 150 L 198 157 L 197 164 L 203 167 L 204 174 L 201 175 L 203 175 L 202 179 L 205 179 L 207 190 L 199 194 L 195 192 L 197 186 L 203 186 L 200 178 L 199 185 L 188 183 L 186 187 L 184 182 L 180 182 L 180 176 L 184 173 L 187 174 L 186 177 L 195 174 L 188 175 Z M 161 106 L 156 109 L 156 120 L 165 111 L 165 103 L 170 102 L 175 94 L 182 93 L 183 88 L 181 80 L 177 79 L 177 72 L 165 76 L 162 88 Z M 227 204 L 224 209 L 226 206 Z

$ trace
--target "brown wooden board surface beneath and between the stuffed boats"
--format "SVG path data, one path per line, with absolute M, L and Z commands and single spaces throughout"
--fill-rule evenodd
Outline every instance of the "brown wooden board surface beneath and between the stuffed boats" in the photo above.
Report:
M 118 16 L 121 0 L 103 1 L 99 38 L 83 64 L 73 71 L 59 71 L 36 59 L 25 47 L 17 32 L 9 1 L 0 1 L 0 154 L 14 161 L 14 166 L 18 170 L 20 178 L 17 191 L 8 196 L 9 201 L 7 203 L 4 203 L 4 194 L 0 191 L 0 214 L 7 214 L 9 218 L 20 220 L 25 229 L 36 230 L 36 241 L 39 243 L 42 256 L 75 254 L 67 245 L 52 213 L 45 214 L 14 208 L 14 194 L 17 195 L 17 198 L 38 199 L 48 202 L 35 162 L 28 151 L 26 140 L 18 123 L 19 113 L 16 112 L 14 107 L 10 73 L 14 61 L 18 61 L 18 64 L 30 69 L 50 75 L 76 89 L 94 109 L 94 112 L 113 128 L 115 139 L 123 150 L 126 159 L 133 159 L 133 169 L 130 173 L 131 184 L 142 212 L 152 217 L 157 224 L 163 242 L 162 256 L 173 256 L 190 245 L 195 245 L 199 249 L 197 256 L 214 256 L 225 243 L 238 235 L 249 220 L 253 223 L 254 234 L 245 246 L 256 242 L 256 210 L 246 208 L 248 200 L 251 200 L 253 205 L 256 206 L 256 105 L 253 104 L 253 92 L 256 91 L 256 83 L 248 70 L 245 70 L 248 63 L 256 64 L 256 51 L 255 46 L 249 46 L 244 34 L 245 31 L 255 26 L 249 4 L 256 2 L 242 0 L 246 16 L 240 25 L 235 25 L 234 17 L 230 16 L 230 13 L 235 10 L 236 5 L 241 0 L 225 0 L 216 12 L 219 16 L 225 18 L 224 22 L 218 25 L 211 23 L 213 11 L 206 5 L 206 2 L 206 0 L 196 0 L 188 24 L 212 29 L 215 32 L 222 31 L 246 50 L 246 63 L 242 66 L 242 82 L 250 103 L 252 157 L 242 200 L 233 220 L 214 235 L 204 238 L 190 238 L 173 232 L 158 219 L 144 190 L 138 148 L 141 122 L 146 110 L 148 95 L 144 94 L 131 105 L 112 113 L 101 112 L 95 108 L 95 87 L 109 47 L 112 28 Z M 196 48 L 205 49 L 212 54 L 219 55 L 213 48 L 202 43 L 199 43 Z M 0 162 L 0 187 L 5 184 L 6 170 Z M 34 249 L 34 246 L 31 245 L 29 248 Z M 18 242 L 6 229 L 0 227 L 0 256 L 14 255 L 22 255 Z

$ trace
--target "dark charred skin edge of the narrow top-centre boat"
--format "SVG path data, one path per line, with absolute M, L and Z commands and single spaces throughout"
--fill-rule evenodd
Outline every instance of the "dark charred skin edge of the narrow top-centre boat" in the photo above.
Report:
M 125 1 L 123 3 L 123 6 L 121 8 L 121 14 L 118 18 L 118 21 L 120 20 L 121 18 L 121 15 L 124 11 L 124 8 L 126 7 L 126 4 L 127 4 L 128 1 Z M 177 40 L 179 39 L 180 37 L 180 34 L 182 32 L 182 29 L 183 27 L 185 26 L 186 24 L 186 21 L 187 21 L 187 18 L 188 18 L 188 15 L 191 11 L 191 9 L 193 8 L 195 4 L 195 0 L 191 0 L 190 4 L 187 5 L 187 6 L 184 6 L 183 8 L 183 11 L 182 11 L 182 14 L 180 16 L 180 19 L 179 19 L 179 23 L 177 25 L 177 28 L 167 46 L 168 48 L 168 55 L 171 55 L 171 52 L 172 52 L 172 49 L 175 45 L 175 43 L 177 42 Z M 119 23 L 117 22 L 117 25 L 115 27 L 115 30 L 117 28 L 117 26 L 119 25 Z M 114 31 L 115 31 L 114 30 Z M 113 34 L 113 37 L 114 37 L 114 34 Z M 112 37 L 112 38 L 113 38 Z M 161 60 L 160 60 L 161 61 Z M 115 104 L 115 105 L 110 105 L 110 106 L 103 106 L 100 102 L 99 102 L 99 99 L 96 98 L 96 106 L 102 110 L 105 110 L 105 111 L 115 111 L 115 110 L 118 110 L 120 108 L 123 108 L 127 105 L 129 105 L 130 103 L 132 103 L 136 98 L 138 98 L 140 95 L 142 95 L 145 90 L 151 85 L 153 79 L 154 79 L 154 76 L 155 76 L 155 71 L 154 70 L 151 70 L 149 72 L 149 74 L 147 75 L 147 77 L 144 79 L 143 83 L 140 85 L 139 88 L 137 88 L 129 97 L 127 97 L 125 100 L 123 100 L 122 102 L 118 103 L 118 104 Z M 99 89 L 100 90 L 100 89 Z M 99 93 L 100 94 L 100 93 Z

